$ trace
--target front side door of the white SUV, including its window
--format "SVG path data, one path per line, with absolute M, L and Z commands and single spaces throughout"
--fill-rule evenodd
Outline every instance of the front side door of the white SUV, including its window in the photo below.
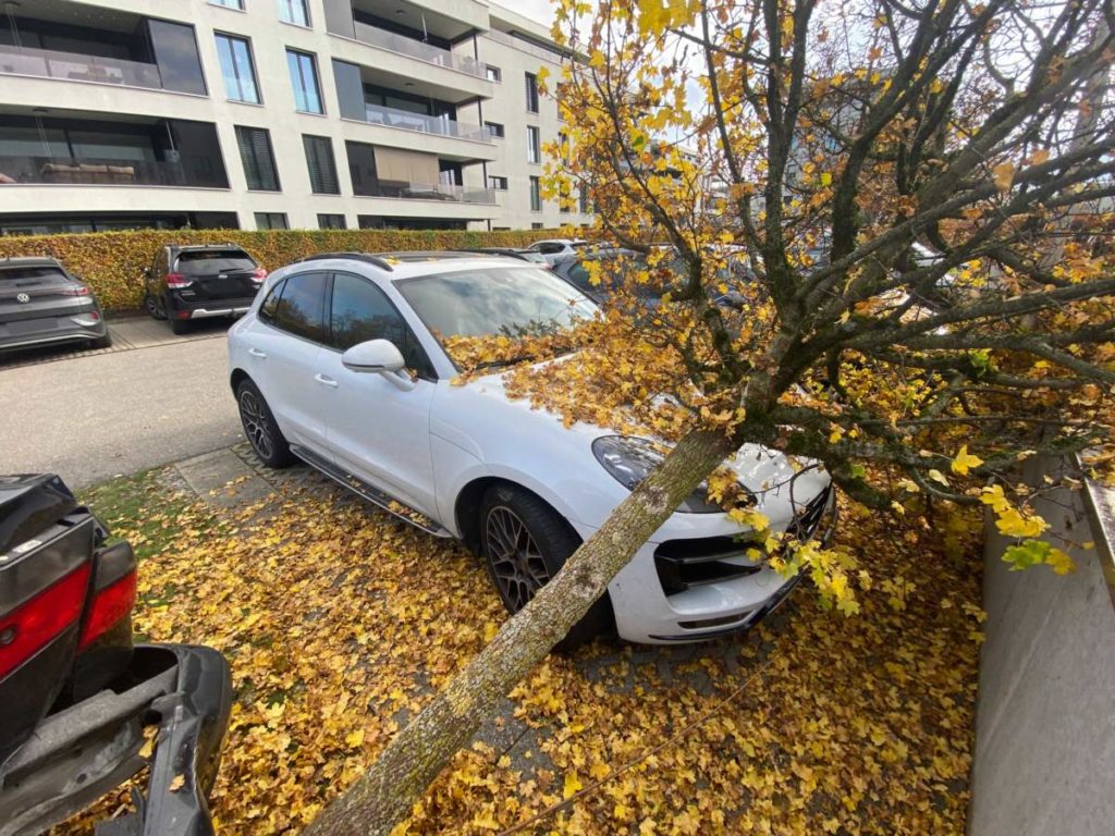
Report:
M 318 371 L 332 381 L 323 400 L 333 460 L 436 517 L 429 411 L 437 385 L 429 359 L 384 291 L 352 273 L 333 274 L 329 329 Z M 400 387 L 388 375 L 345 368 L 341 354 L 346 349 L 377 339 L 390 340 L 403 352 L 413 372 L 413 388 Z

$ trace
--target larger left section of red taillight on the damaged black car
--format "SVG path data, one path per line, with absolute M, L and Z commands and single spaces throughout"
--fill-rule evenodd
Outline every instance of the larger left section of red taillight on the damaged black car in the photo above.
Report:
M 0 679 L 77 621 L 88 589 L 86 563 L 0 620 Z

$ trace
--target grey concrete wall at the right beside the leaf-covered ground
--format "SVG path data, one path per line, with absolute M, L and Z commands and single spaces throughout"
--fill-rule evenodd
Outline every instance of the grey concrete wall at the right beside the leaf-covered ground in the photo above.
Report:
M 1030 484 L 1041 473 L 1034 463 Z M 1010 572 L 988 526 L 971 836 L 1115 833 L 1115 495 L 1089 487 L 1039 504 L 1075 574 Z

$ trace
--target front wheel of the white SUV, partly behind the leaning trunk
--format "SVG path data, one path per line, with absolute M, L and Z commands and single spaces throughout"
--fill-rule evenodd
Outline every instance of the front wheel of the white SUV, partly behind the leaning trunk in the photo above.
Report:
M 523 609 L 580 545 L 569 523 L 529 490 L 496 485 L 484 495 L 481 553 L 508 612 Z M 559 642 L 558 650 L 570 652 L 614 631 L 612 602 L 604 592 Z

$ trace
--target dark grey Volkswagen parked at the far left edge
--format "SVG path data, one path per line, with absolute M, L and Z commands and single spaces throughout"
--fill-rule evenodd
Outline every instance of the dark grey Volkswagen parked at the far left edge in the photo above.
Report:
M 57 259 L 0 259 L 0 349 L 55 342 L 113 344 L 89 285 Z

